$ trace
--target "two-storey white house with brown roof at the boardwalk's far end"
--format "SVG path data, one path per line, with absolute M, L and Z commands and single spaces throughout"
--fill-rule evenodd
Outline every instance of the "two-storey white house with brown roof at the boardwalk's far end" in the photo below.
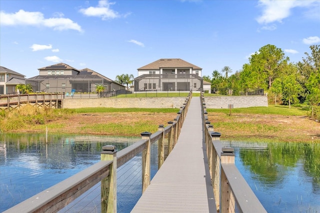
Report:
M 180 58 L 161 58 L 137 69 L 134 91 L 202 91 L 202 68 Z

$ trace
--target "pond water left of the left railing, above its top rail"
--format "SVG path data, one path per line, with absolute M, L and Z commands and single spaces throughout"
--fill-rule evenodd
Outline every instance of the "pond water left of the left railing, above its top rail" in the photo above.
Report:
M 121 150 L 138 138 L 0 135 L 0 212 L 100 160 L 104 145 Z

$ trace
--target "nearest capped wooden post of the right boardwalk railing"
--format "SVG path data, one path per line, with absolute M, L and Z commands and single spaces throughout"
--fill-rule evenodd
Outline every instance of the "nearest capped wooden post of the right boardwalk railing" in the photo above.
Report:
M 234 149 L 231 147 L 224 147 L 221 150 L 221 164 L 234 164 Z M 228 180 L 223 169 L 221 169 L 221 212 L 234 213 L 234 203 L 234 196 L 232 195 Z

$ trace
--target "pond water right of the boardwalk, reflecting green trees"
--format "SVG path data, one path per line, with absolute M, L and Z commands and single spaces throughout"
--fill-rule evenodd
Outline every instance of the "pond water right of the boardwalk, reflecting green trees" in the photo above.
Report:
M 320 144 L 224 145 L 267 212 L 320 212 Z

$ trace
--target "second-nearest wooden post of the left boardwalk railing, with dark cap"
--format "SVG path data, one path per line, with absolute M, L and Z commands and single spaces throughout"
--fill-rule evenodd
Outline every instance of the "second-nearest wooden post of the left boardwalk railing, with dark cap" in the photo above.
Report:
M 140 133 L 142 139 L 148 139 L 145 144 L 145 148 L 142 151 L 142 193 L 148 188 L 150 185 L 150 173 L 151 173 L 151 144 L 150 144 L 150 132 L 142 132 Z

